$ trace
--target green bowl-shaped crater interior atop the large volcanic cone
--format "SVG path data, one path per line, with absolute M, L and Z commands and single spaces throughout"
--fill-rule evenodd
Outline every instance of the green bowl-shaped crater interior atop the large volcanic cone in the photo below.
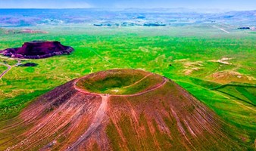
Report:
M 76 87 L 97 94 L 137 94 L 163 82 L 160 75 L 135 69 L 114 69 L 87 75 Z

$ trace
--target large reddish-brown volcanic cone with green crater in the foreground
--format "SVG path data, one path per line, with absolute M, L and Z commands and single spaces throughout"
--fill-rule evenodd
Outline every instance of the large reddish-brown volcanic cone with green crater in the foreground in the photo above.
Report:
M 33 101 L 1 132 L 6 150 L 242 149 L 219 117 L 170 79 L 112 69 Z M 14 139 L 15 138 L 15 139 Z

